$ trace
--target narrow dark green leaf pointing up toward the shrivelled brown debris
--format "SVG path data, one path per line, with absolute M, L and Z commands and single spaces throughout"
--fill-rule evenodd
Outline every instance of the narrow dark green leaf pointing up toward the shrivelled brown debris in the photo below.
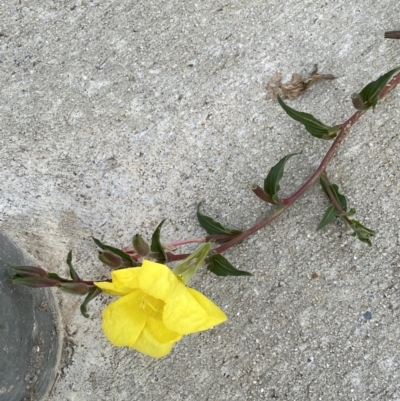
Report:
M 328 125 L 325 125 L 321 121 L 317 120 L 312 114 L 303 113 L 302 111 L 292 109 L 279 96 L 278 102 L 282 106 L 283 110 L 285 110 L 289 115 L 289 117 L 292 117 L 293 120 L 303 124 L 304 128 L 316 138 L 327 140 L 333 139 L 342 127 L 341 125 L 329 127 Z

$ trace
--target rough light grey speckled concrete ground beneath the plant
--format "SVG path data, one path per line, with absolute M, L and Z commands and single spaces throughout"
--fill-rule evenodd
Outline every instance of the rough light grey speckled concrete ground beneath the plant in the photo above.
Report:
M 269 98 L 274 74 L 334 74 L 290 101 L 334 124 L 400 64 L 400 41 L 383 39 L 400 29 L 395 0 L 14 0 L 0 13 L 0 229 L 59 274 L 73 249 L 87 278 L 108 274 L 92 235 L 128 245 L 166 217 L 164 240 L 201 235 L 200 200 L 249 227 L 269 211 L 251 182 L 299 150 L 283 193 L 308 177 L 329 144 Z M 85 320 L 56 294 L 65 349 L 49 401 L 399 400 L 399 104 L 400 88 L 329 168 L 377 230 L 372 248 L 340 222 L 315 232 L 327 201 L 313 187 L 227 252 L 254 277 L 192 281 L 229 321 L 161 360 L 107 343 L 109 298 Z

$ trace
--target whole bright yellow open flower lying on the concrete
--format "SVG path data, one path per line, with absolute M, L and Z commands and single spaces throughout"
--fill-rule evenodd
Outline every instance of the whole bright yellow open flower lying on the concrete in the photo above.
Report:
M 121 298 L 103 311 L 103 331 L 116 346 L 160 358 L 184 334 L 207 330 L 226 320 L 212 301 L 165 265 L 145 260 L 141 267 L 114 270 L 112 283 L 96 282 Z

